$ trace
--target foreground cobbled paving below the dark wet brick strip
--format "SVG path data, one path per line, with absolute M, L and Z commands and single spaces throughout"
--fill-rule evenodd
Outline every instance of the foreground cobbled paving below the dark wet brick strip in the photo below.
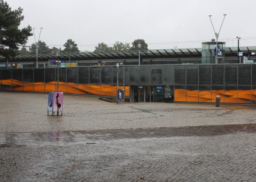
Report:
M 255 181 L 255 132 L 2 146 L 0 179 Z

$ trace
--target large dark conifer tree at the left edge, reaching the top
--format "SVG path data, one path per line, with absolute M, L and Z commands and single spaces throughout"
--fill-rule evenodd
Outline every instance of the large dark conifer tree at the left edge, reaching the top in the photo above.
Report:
M 7 2 L 0 0 L 0 55 L 6 59 L 15 56 L 18 53 L 18 45 L 26 44 L 28 37 L 33 35 L 29 25 L 19 29 L 23 19 L 21 7 L 12 10 Z

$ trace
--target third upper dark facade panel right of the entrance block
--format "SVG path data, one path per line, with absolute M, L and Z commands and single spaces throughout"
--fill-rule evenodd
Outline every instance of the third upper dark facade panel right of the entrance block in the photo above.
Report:
M 211 84 L 211 66 L 199 65 L 199 85 Z

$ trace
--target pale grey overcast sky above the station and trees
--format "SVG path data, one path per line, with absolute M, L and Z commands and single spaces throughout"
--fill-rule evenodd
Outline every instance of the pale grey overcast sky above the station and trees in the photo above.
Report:
M 6 1 L 6 0 L 5 0 Z M 73 39 L 80 50 L 93 51 L 99 42 L 145 39 L 149 49 L 201 47 L 215 38 L 227 14 L 220 41 L 227 46 L 256 45 L 255 0 L 8 0 L 12 9 L 23 8 L 21 27 L 35 27 L 38 39 L 49 47 L 62 47 Z M 33 36 L 27 45 L 35 42 Z

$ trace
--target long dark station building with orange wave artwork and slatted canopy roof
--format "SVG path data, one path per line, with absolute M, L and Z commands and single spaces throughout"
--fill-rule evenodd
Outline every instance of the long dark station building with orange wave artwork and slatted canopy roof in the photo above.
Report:
M 243 56 L 238 56 L 238 52 Z M 157 49 L 18 55 L 0 69 L 0 89 L 19 92 L 60 92 L 116 98 L 123 89 L 131 102 L 193 102 L 256 104 L 256 47 L 225 47 L 203 42 L 201 49 Z M 75 60 L 75 67 L 69 67 Z M 49 60 L 67 61 L 64 67 Z M 5 63 L 4 58 L 0 62 Z M 74 61 L 73 61 L 74 62 Z M 117 67 L 117 63 L 119 67 Z M 74 64 L 73 64 L 74 66 Z M 118 78 L 118 81 L 117 81 Z

